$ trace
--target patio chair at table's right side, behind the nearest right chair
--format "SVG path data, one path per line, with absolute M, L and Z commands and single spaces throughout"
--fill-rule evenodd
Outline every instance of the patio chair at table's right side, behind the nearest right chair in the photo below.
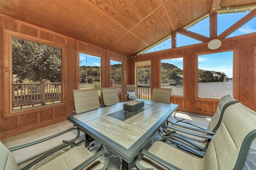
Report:
M 176 117 L 176 113 L 174 113 L 174 117 L 177 119 L 177 121 L 167 121 L 167 124 L 163 125 L 164 132 L 159 131 L 160 135 L 162 135 L 164 138 L 170 138 L 169 141 L 176 143 L 178 147 L 203 157 L 212 136 L 216 134 L 216 131 L 220 126 L 225 109 L 231 104 L 237 102 L 238 100 L 232 98 L 230 95 L 223 96 L 220 98 L 217 109 L 212 117 L 192 115 L 177 111 L 176 113 L 179 112 L 185 114 L 192 120 L 193 117 L 210 119 L 208 128 L 204 129 L 189 119 L 179 119 Z

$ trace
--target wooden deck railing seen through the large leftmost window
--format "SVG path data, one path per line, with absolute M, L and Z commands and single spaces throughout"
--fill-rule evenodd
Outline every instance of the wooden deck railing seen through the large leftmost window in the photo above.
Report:
M 13 83 L 13 109 L 61 102 L 61 83 Z

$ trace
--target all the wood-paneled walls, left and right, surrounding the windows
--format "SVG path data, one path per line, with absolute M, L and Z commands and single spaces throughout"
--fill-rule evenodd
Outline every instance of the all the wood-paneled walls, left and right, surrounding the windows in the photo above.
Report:
M 72 114 L 71 111 L 74 109 L 72 90 L 79 87 L 79 52 L 101 57 L 102 87 L 110 87 L 110 60 L 123 62 L 124 92 L 125 84 L 135 84 L 135 62 L 151 61 L 151 89 L 153 89 L 160 87 L 160 60 L 183 57 L 184 96 L 172 96 L 172 103 L 179 104 L 178 109 L 181 111 L 212 115 L 218 100 L 197 98 L 197 55 L 234 50 L 234 98 L 256 110 L 256 33 L 221 39 L 222 46 L 214 51 L 208 49 L 207 43 L 200 43 L 128 58 L 7 16 L 1 16 L 0 26 L 0 139 L 65 121 L 66 117 Z M 11 35 L 63 49 L 62 104 L 11 113 Z M 119 93 L 120 100 L 126 100 L 124 92 Z M 103 102 L 101 96 L 99 100 L 100 103 Z

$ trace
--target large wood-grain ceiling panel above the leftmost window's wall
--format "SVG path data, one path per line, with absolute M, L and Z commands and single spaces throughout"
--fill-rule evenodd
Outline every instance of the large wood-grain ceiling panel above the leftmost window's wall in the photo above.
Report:
M 104 48 L 126 33 L 87 1 L 21 1 L 19 8 L 23 20 Z

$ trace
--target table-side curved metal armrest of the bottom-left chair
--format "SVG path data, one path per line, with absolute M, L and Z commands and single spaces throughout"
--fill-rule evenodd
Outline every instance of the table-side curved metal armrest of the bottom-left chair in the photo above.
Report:
M 96 154 L 94 154 L 93 156 L 88 158 L 86 161 L 82 162 L 82 164 L 76 166 L 76 168 L 74 168 L 73 170 L 82 170 L 82 169 L 84 169 L 86 166 L 88 166 L 90 163 L 92 163 L 94 160 L 96 160 L 97 158 L 99 158 L 103 154 L 106 154 L 106 158 L 105 158 L 105 162 L 102 165 L 102 167 L 100 168 L 100 170 L 106 170 L 107 166 L 108 166 L 108 163 L 109 163 L 109 155 L 108 155 L 108 152 L 106 150 L 100 150 L 99 152 L 96 152 Z

